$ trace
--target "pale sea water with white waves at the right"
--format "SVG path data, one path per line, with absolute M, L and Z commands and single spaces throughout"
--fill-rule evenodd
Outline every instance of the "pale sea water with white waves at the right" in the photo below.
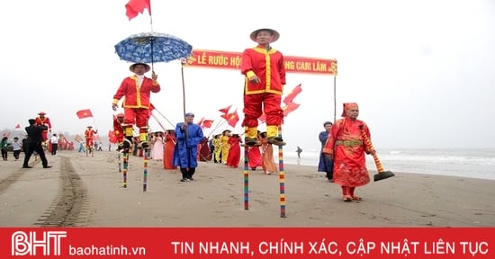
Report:
M 274 148 L 278 163 L 277 148 Z M 393 173 L 438 174 L 495 180 L 495 149 L 383 149 L 377 157 L 385 171 Z M 293 150 L 284 150 L 284 163 L 315 166 L 320 150 L 303 149 L 301 158 Z M 366 155 L 369 170 L 376 171 L 374 157 Z

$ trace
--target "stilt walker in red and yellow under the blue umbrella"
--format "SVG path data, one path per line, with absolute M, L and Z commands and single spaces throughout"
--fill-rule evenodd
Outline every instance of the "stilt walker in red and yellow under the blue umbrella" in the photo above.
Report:
M 148 64 L 135 63 L 130 65 L 133 76 L 125 77 L 117 92 L 113 95 L 112 109 L 117 111 L 117 103 L 124 97 L 122 106 L 124 108 L 124 121 L 122 129 L 128 141 L 123 142 L 124 148 L 129 148 L 132 143 L 132 126 L 136 124 L 139 128 L 139 142 L 141 147 L 148 148 L 148 120 L 151 112 L 149 110 L 150 93 L 160 92 L 157 82 L 157 74 L 153 72 L 151 78 L 144 76 L 149 71 Z

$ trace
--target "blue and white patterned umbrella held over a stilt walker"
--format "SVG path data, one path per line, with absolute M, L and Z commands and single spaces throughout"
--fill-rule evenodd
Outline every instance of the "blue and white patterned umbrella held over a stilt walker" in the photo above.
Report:
M 175 36 L 159 32 L 142 32 L 130 35 L 115 45 L 121 60 L 134 63 L 169 62 L 188 58 L 193 46 Z

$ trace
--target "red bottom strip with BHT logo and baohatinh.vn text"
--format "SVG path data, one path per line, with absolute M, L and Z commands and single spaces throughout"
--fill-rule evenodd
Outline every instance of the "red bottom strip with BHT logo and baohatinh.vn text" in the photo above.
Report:
M 495 258 L 495 228 L 0 228 L 0 238 L 0 258 Z

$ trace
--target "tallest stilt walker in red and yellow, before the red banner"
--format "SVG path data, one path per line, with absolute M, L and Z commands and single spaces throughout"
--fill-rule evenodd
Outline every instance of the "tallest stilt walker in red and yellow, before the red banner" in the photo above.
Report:
M 257 141 L 258 118 L 266 113 L 267 141 L 270 144 L 284 146 L 278 137 L 278 127 L 282 124 L 284 112 L 280 108 L 285 85 L 283 54 L 273 49 L 280 34 L 273 29 L 258 29 L 251 32 L 251 40 L 257 47 L 245 49 L 242 53 L 240 70 L 245 76 L 244 85 L 244 121 L 247 127 L 246 145 L 259 145 Z M 265 111 L 263 111 L 263 109 Z

